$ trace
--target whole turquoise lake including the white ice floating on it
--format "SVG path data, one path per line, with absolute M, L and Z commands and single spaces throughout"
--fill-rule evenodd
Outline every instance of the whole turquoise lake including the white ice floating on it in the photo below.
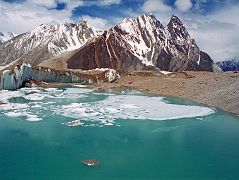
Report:
M 131 90 L 0 98 L 0 179 L 239 179 L 238 116 Z

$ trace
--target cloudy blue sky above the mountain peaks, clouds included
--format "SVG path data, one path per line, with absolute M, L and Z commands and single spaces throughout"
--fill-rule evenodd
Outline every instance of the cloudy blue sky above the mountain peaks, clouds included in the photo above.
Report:
M 0 0 L 0 32 L 42 23 L 77 22 L 108 29 L 123 18 L 152 13 L 164 25 L 177 15 L 214 60 L 239 57 L 238 0 Z

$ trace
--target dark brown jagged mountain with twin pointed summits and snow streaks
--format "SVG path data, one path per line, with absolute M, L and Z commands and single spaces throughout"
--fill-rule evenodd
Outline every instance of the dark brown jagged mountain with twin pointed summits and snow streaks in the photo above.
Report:
M 198 48 L 176 16 L 163 26 L 153 15 L 124 19 L 80 48 L 68 68 L 109 67 L 123 70 L 213 71 L 210 56 Z

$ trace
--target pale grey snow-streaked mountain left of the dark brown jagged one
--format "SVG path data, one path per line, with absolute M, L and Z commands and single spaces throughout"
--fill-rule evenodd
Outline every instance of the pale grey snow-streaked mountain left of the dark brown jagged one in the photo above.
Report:
M 42 24 L 32 31 L 19 35 L 12 41 L 0 45 L 0 64 L 14 60 L 39 64 L 41 61 L 65 51 L 80 48 L 89 39 L 101 33 L 89 27 L 86 21 L 55 26 Z

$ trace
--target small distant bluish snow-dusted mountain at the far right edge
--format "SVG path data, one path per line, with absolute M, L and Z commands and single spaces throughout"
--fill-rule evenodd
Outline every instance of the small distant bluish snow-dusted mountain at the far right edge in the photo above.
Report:
M 217 62 L 217 65 L 225 71 L 239 71 L 239 58 Z

